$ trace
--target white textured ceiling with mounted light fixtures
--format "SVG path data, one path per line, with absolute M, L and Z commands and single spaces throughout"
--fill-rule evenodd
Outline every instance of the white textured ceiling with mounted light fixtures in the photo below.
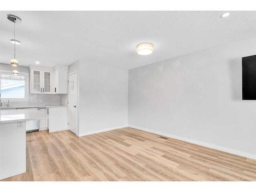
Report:
M 13 57 L 13 23 L 8 13 L 23 19 L 16 25 L 20 65 L 53 67 L 78 59 L 132 69 L 186 53 L 256 36 L 256 11 L 0 11 L 0 62 Z M 155 51 L 135 52 L 140 42 Z

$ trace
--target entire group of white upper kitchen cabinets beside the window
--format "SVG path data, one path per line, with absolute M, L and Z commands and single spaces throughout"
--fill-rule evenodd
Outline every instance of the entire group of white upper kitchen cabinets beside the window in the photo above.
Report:
M 68 66 L 42 68 L 30 66 L 31 94 L 67 94 Z

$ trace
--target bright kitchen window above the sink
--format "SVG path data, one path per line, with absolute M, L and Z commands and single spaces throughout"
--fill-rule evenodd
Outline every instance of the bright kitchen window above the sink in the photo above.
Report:
M 28 73 L 0 71 L 0 94 L 2 101 L 28 101 Z

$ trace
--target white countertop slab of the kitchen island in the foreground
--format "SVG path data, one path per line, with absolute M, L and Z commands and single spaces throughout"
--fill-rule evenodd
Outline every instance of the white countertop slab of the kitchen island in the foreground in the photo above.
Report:
M 38 110 L 0 110 L 0 123 L 48 119 L 48 114 Z

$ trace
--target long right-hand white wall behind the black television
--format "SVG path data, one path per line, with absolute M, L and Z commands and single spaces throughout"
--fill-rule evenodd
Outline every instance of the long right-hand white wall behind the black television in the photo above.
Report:
M 253 38 L 129 70 L 129 125 L 256 158 L 256 101 L 242 100 L 241 66 L 255 54 Z

